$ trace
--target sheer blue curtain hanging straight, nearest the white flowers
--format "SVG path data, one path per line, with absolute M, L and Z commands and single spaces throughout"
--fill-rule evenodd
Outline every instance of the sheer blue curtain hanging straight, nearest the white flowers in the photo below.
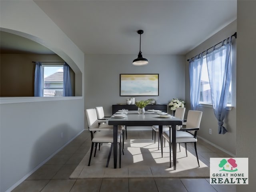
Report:
M 202 54 L 192 61 L 189 60 L 189 78 L 190 78 L 190 105 L 192 110 L 196 110 L 200 100 L 200 82 L 203 64 Z

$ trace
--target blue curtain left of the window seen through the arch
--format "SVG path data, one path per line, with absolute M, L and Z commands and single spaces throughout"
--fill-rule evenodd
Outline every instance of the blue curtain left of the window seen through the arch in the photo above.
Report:
M 43 96 L 43 69 L 42 62 L 36 62 L 35 78 L 34 78 L 34 96 Z

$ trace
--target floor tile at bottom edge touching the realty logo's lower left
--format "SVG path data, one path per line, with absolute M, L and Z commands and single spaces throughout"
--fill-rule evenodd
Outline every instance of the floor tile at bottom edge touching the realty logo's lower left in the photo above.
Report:
M 181 178 L 183 185 L 186 187 L 188 192 L 216 192 L 216 190 L 207 182 L 206 179 L 200 178 Z

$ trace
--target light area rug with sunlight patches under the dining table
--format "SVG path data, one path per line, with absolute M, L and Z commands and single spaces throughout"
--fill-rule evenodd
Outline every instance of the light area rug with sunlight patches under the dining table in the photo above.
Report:
M 103 144 L 96 156 L 92 156 L 88 166 L 90 150 L 78 164 L 70 179 L 86 178 L 209 178 L 210 169 L 201 160 L 198 167 L 194 150 L 188 147 L 188 157 L 184 146 L 177 150 L 176 170 L 170 168 L 169 147 L 164 147 L 163 157 L 158 150 L 158 143 L 152 140 L 125 140 L 124 155 L 119 168 L 119 153 L 117 167 L 114 169 L 113 152 L 108 168 L 106 162 L 110 144 Z M 119 151 L 119 150 L 118 150 Z M 172 156 L 172 154 L 171 154 Z

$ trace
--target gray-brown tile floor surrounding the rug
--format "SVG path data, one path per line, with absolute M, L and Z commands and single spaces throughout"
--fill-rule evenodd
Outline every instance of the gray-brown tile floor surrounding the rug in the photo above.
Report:
M 152 131 L 128 130 L 129 138 L 150 139 Z M 210 185 L 209 178 L 69 179 L 90 145 L 90 132 L 85 130 L 12 192 L 236 192 L 235 185 Z M 210 157 L 229 157 L 202 140 L 197 148 L 208 166 Z M 193 152 L 194 146 L 188 145 L 188 150 Z

